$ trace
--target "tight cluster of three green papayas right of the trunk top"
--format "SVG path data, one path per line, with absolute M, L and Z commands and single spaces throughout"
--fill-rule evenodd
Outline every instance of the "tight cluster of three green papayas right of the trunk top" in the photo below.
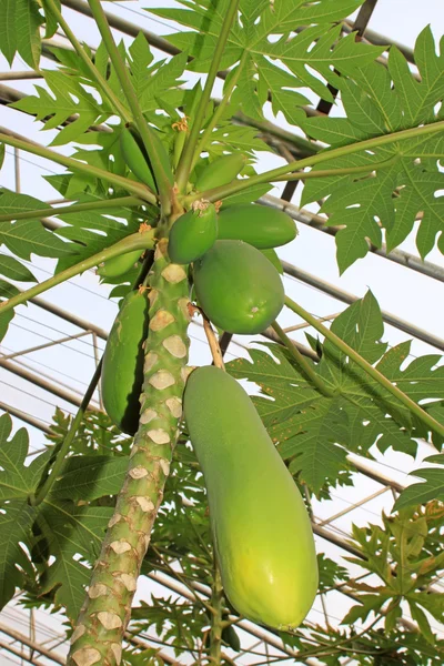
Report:
M 174 263 L 193 263 L 195 295 L 206 316 L 228 333 L 261 333 L 281 312 L 284 290 L 271 258 L 296 235 L 281 211 L 240 203 L 222 206 L 198 201 L 170 232 Z M 278 260 L 279 261 L 279 260 Z

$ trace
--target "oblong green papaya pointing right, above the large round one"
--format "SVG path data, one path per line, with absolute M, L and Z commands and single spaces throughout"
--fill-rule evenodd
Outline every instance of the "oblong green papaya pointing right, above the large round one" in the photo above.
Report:
M 254 203 L 222 206 L 219 213 L 220 239 L 239 239 L 259 250 L 285 245 L 296 238 L 294 221 L 276 209 Z

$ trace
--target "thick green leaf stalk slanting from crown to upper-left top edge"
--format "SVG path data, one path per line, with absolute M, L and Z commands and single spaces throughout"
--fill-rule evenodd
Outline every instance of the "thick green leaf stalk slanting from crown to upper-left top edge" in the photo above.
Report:
M 159 198 L 163 209 L 163 214 L 169 215 L 171 212 L 171 185 L 164 172 L 163 165 L 159 159 L 159 155 L 155 149 L 153 148 L 153 142 L 151 141 L 150 137 L 150 130 L 148 128 L 143 112 L 140 108 L 138 95 L 135 94 L 135 90 L 130 79 L 130 74 L 115 46 L 114 38 L 112 36 L 111 29 L 107 20 L 107 14 L 103 11 L 100 0 L 88 0 L 88 4 L 90 6 L 91 13 L 95 19 L 97 27 L 99 28 L 100 34 L 102 36 L 103 43 L 107 47 L 108 54 L 111 59 L 111 62 L 114 67 L 115 73 L 118 74 L 127 101 L 130 105 L 131 112 L 134 118 L 134 124 L 139 130 L 140 137 L 143 141 L 143 145 L 148 152 L 148 157 L 150 158 L 150 162 L 152 164 L 157 185 L 159 189 Z

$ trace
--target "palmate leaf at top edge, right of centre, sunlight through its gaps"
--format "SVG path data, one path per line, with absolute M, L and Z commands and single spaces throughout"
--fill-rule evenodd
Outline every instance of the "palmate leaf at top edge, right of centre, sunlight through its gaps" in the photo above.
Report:
M 167 39 L 193 57 L 189 69 L 209 71 L 221 33 L 229 0 L 223 2 L 190 2 L 185 9 L 149 10 L 173 20 L 192 31 L 180 31 Z M 242 27 L 234 23 L 225 46 L 221 69 L 243 58 L 243 69 L 233 93 L 233 102 L 251 118 L 263 118 L 263 104 L 270 94 L 274 113 L 282 111 L 287 122 L 300 125 L 304 118 L 300 107 L 307 100 L 296 88 L 311 88 L 321 98 L 332 101 L 325 83 L 309 68 L 335 85 L 336 73 L 345 73 L 373 61 L 384 50 L 357 43 L 354 36 L 340 38 L 340 26 L 332 27 L 355 11 L 362 0 L 280 0 L 279 2 L 240 2 Z M 260 20 L 259 20 L 260 19 Z M 297 28 L 302 31 L 295 32 Z M 276 39 L 274 39 L 276 38 Z M 287 70 L 282 69 L 282 63 Z M 236 68 L 233 68 L 232 74 Z

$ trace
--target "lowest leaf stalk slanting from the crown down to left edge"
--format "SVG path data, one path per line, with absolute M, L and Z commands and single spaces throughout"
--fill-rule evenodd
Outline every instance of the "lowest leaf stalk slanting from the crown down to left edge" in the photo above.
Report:
M 49 289 L 70 280 L 71 278 L 75 278 L 80 273 L 88 271 L 88 269 L 92 269 L 93 266 L 99 265 L 100 263 L 108 261 L 109 259 L 113 259 L 114 256 L 119 256 L 125 252 L 130 252 L 131 250 L 150 250 L 154 246 L 154 230 L 150 229 L 149 231 L 144 231 L 142 233 L 133 233 L 122 241 L 114 243 L 107 250 L 102 250 L 98 254 L 93 254 L 88 259 L 84 259 L 80 263 L 61 271 L 57 275 L 49 278 L 44 282 L 40 282 L 40 284 L 36 284 L 36 286 L 31 286 L 27 291 L 23 291 L 16 296 L 12 296 L 8 301 L 3 301 L 0 303 L 0 313 L 4 313 L 11 307 L 16 307 L 16 305 L 20 305 L 21 303 L 26 303 L 29 299 L 37 296 L 38 294 L 42 294 Z

